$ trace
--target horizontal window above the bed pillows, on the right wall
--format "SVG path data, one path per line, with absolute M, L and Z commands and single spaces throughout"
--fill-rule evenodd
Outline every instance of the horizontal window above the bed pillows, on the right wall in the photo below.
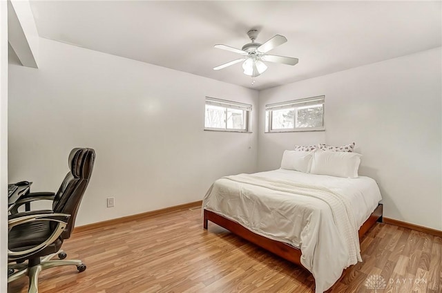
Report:
M 268 104 L 265 106 L 265 131 L 324 130 L 325 96 Z

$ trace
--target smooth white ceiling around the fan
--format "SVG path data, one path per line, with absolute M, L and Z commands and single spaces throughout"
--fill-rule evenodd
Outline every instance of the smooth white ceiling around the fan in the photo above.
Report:
M 258 90 L 442 45 L 441 1 L 31 1 L 41 37 Z M 258 28 L 273 55 L 296 57 L 251 86 L 239 55 Z

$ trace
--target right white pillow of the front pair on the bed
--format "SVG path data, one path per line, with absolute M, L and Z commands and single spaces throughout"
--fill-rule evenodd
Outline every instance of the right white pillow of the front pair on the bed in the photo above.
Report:
M 361 156 L 359 153 L 321 151 L 318 149 L 313 152 L 310 173 L 356 178 L 358 177 L 359 164 L 361 164 Z

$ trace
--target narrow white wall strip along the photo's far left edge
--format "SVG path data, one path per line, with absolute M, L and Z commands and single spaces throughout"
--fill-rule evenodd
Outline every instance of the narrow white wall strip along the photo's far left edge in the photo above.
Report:
M 8 3 L 0 1 L 0 292 L 8 278 Z

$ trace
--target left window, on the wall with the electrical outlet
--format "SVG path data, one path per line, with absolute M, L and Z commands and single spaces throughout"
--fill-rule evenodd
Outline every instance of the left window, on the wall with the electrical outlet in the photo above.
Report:
M 251 105 L 206 97 L 204 130 L 249 131 Z

